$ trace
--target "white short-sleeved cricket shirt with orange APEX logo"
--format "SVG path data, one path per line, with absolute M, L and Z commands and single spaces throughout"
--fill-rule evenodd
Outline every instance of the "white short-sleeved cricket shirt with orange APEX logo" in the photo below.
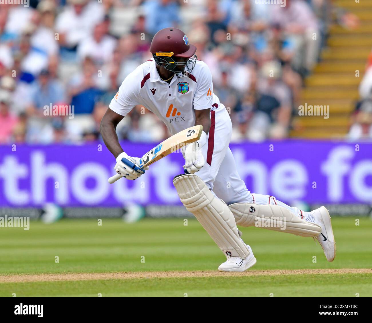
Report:
M 212 75 L 203 61 L 196 61 L 192 74 L 174 75 L 170 84 L 161 80 L 153 59 L 129 74 L 111 100 L 110 109 L 125 116 L 142 105 L 155 113 L 172 135 L 195 125 L 195 110 L 215 110 L 220 106 L 213 94 Z

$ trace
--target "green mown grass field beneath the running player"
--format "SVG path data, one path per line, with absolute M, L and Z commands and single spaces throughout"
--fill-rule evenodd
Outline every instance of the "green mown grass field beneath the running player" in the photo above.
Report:
M 332 218 L 337 243 L 327 262 L 311 238 L 255 227 L 242 228 L 257 258 L 246 274 L 205 275 L 217 271 L 224 255 L 196 220 L 61 220 L 31 222 L 23 228 L 0 228 L 0 296 L 372 296 L 372 274 L 318 274 L 318 269 L 372 268 L 372 220 Z M 55 257 L 59 262 L 55 262 Z M 314 256 L 316 262 L 314 262 Z M 314 269 L 307 274 L 250 275 L 254 270 Z M 195 271 L 195 277 L 89 278 L 89 273 Z M 87 274 L 86 280 L 26 281 L 27 274 Z M 230 275 L 231 274 L 231 275 Z M 19 279 L 19 282 L 18 282 Z M 61 278 L 62 279 L 62 278 Z M 5 282 L 4 282 L 5 281 Z

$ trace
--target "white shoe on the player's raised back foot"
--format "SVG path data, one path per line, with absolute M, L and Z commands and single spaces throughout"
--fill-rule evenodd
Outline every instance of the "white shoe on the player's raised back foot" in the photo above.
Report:
M 316 239 L 323 248 L 325 257 L 331 262 L 336 256 L 336 242 L 334 241 L 331 217 L 324 206 L 311 211 L 311 214 L 315 219 L 315 223 L 321 227 L 320 235 Z

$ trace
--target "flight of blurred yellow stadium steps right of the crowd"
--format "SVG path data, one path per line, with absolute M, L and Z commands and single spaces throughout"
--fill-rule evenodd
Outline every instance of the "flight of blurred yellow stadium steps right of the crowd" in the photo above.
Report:
M 299 105 L 327 105 L 329 118 L 297 116 L 290 136 L 297 138 L 345 138 L 350 115 L 359 100 L 358 87 L 372 47 L 372 0 L 335 0 L 333 3 L 356 14 L 356 29 L 331 26 L 328 47 L 306 80 Z M 359 71 L 359 77 L 356 75 Z M 297 113 L 296 111 L 295 113 Z

